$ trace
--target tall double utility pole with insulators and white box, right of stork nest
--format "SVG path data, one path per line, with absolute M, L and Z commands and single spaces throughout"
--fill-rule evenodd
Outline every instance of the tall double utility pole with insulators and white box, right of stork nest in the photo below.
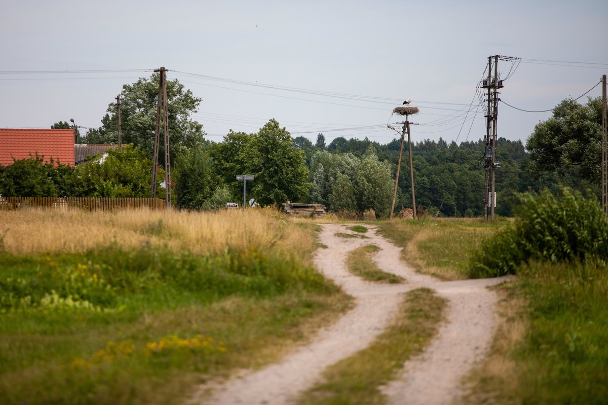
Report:
M 500 55 L 488 57 L 488 78 L 483 80 L 482 88 L 488 89 L 488 111 L 486 113 L 486 138 L 485 153 L 483 155 L 483 168 L 485 170 L 485 193 L 484 218 L 488 220 L 488 208 L 490 220 L 494 221 L 494 208 L 496 207 L 496 168 L 499 162 L 496 161 L 496 122 L 498 118 L 498 98 L 499 91 L 502 89 L 502 80 L 498 80 L 498 60 Z M 494 77 L 492 77 L 492 60 L 494 62 Z

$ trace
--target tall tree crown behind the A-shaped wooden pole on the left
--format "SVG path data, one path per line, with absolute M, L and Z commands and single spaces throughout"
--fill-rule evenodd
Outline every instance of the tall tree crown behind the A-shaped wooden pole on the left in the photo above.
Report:
M 123 144 L 134 144 L 141 148 L 146 156 L 152 158 L 154 153 L 154 131 L 156 131 L 156 113 L 158 105 L 159 72 L 150 78 L 140 78 L 131 85 L 123 85 L 120 93 L 120 120 Z M 176 80 L 167 80 L 167 109 L 170 158 L 188 148 L 204 148 L 204 131 L 202 125 L 192 119 L 201 99 L 192 91 L 185 90 L 184 85 Z M 91 131 L 91 139 L 117 143 L 116 103 L 108 105 L 108 112 L 102 119 L 102 126 Z M 162 130 L 161 130 L 162 131 Z M 164 150 L 164 137 L 160 137 L 159 151 Z M 164 154 L 159 153 L 159 164 L 164 164 Z

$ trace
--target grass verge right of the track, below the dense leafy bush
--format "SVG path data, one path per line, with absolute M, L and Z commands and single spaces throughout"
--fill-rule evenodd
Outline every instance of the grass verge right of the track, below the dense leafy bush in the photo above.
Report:
M 506 333 L 464 403 L 606 403 L 608 266 L 534 262 L 499 291 Z

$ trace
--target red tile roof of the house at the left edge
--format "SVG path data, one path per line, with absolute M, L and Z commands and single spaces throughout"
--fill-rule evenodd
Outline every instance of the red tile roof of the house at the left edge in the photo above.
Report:
M 0 165 L 13 164 L 38 152 L 44 161 L 74 165 L 74 130 L 13 130 L 0 128 Z

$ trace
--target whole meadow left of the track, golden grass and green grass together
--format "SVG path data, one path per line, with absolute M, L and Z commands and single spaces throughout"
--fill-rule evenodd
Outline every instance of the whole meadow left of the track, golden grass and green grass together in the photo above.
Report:
M 0 403 L 163 404 L 259 367 L 348 297 L 272 210 L 0 211 Z

